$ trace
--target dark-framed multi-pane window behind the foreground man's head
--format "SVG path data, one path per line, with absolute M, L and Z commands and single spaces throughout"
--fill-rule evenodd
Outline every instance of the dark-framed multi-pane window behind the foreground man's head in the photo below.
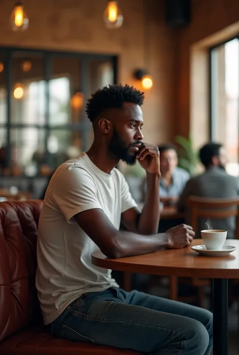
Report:
M 85 100 L 115 82 L 115 57 L 0 48 L 0 175 L 49 176 L 87 150 Z

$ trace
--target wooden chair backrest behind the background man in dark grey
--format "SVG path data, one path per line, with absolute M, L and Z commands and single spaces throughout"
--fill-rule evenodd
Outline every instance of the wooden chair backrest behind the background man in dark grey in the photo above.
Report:
M 190 196 L 187 205 L 190 209 L 190 223 L 195 231 L 198 229 L 200 218 L 219 220 L 235 217 L 235 239 L 239 239 L 239 198 L 221 199 Z

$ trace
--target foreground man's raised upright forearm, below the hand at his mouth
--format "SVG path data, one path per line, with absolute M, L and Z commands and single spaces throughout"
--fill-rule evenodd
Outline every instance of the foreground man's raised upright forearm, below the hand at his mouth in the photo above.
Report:
M 156 234 L 158 232 L 160 219 L 159 181 L 159 173 L 147 173 L 146 198 L 138 222 L 138 231 L 141 234 Z

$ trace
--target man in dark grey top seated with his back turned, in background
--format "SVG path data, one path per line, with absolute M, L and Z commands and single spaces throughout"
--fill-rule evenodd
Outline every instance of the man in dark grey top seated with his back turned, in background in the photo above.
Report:
M 205 167 L 205 172 L 192 177 L 186 184 L 185 189 L 177 203 L 178 210 L 186 209 L 189 196 L 200 196 L 205 198 L 236 198 L 239 194 L 238 178 L 228 175 L 225 171 L 227 163 L 226 151 L 221 144 L 208 143 L 199 151 L 201 163 Z M 189 220 L 189 211 L 187 219 Z M 206 220 L 199 221 L 199 228 L 196 231 L 197 237 L 200 231 L 206 229 Z M 227 238 L 234 238 L 235 219 L 227 218 L 221 220 L 211 220 L 213 229 L 223 229 L 227 231 Z

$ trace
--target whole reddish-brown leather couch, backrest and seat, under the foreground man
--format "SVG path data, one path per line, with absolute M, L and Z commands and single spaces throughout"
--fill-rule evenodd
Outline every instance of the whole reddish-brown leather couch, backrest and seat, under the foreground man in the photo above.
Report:
M 0 203 L 0 354 L 136 355 L 132 350 L 55 339 L 45 329 L 35 289 L 41 206 L 41 200 Z

